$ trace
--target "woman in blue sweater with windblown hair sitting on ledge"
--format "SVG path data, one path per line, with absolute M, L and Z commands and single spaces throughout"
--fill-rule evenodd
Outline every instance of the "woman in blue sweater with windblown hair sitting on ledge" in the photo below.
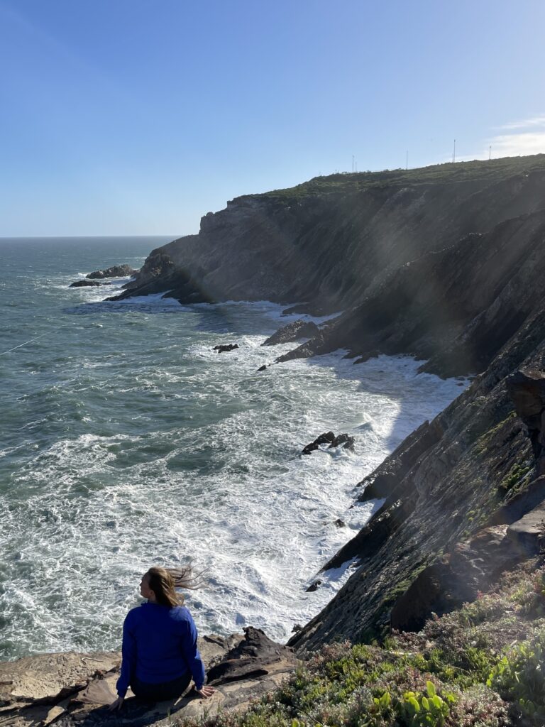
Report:
M 118 698 L 111 710 L 121 707 L 129 686 L 139 699 L 161 702 L 180 696 L 192 676 L 198 694 L 205 699 L 214 694 L 213 687 L 204 686 L 195 623 L 182 605 L 183 596 L 174 590 L 190 584 L 190 567 L 181 571 L 150 568 L 142 577 L 140 595 L 148 602 L 132 608 L 123 624 Z

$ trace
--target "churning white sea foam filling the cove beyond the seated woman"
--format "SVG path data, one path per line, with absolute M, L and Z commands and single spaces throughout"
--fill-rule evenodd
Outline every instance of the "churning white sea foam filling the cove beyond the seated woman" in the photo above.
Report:
M 138 321 L 148 332 L 157 320 L 142 319 L 150 306 L 179 306 L 159 296 L 131 300 L 142 304 Z M 102 353 L 79 363 L 91 379 L 49 391 L 55 401 L 85 392 L 85 406 L 101 407 L 108 431 L 68 434 L 41 449 L 19 467 L 17 490 L 3 496 L 8 655 L 17 639 L 24 651 L 116 646 L 139 574 L 151 563 L 191 556 L 206 571 L 206 587 L 188 598 L 203 632 L 252 624 L 279 640 L 349 577 L 345 565 L 305 592 L 379 505 L 350 509 L 355 484 L 451 401 L 459 382 L 417 375 L 417 362 L 406 357 L 353 366 L 344 352 L 257 373 L 291 345 L 261 348 L 265 336 L 237 331 L 236 321 L 275 318 L 280 307 L 230 308 L 237 313 L 226 323 L 220 316 L 219 334 L 205 326 L 188 340 L 183 360 L 165 328 L 155 338 L 148 333 L 140 358 L 120 363 L 121 353 Z M 222 310 L 197 313 L 215 321 Z M 241 348 L 212 350 L 227 338 Z M 132 402 L 129 433 L 112 430 L 119 398 Z M 326 430 L 354 435 L 355 453 L 323 448 L 302 457 Z M 346 526 L 336 527 L 337 518 Z

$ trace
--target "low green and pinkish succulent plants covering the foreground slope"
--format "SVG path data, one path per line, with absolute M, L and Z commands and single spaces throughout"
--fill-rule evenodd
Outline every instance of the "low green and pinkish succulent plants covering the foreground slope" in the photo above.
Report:
M 419 633 L 325 646 L 243 713 L 177 727 L 501 727 L 545 724 L 545 568 L 432 617 Z

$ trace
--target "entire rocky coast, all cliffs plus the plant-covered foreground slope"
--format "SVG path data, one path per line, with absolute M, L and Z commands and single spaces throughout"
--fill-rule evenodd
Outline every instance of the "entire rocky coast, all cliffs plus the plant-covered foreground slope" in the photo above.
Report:
M 355 363 L 403 353 L 421 358 L 421 371 L 472 375 L 360 483 L 359 499 L 384 504 L 324 564 L 350 564 L 352 575 L 288 644 L 304 658 L 344 640 L 377 646 L 323 651 L 315 671 L 275 697 L 274 719 L 263 706 L 261 721 L 254 712 L 218 724 L 299 726 L 315 703 L 325 711 L 312 718 L 326 724 L 327 695 L 344 704 L 357 688 L 360 702 L 332 724 L 545 723 L 536 678 L 545 668 L 544 271 L 538 155 L 338 174 L 238 198 L 203 217 L 197 236 L 151 252 L 125 286 L 119 297 L 342 311 L 316 330 L 279 334 L 307 340 L 278 364 L 344 348 Z M 397 632 L 420 633 L 403 641 Z M 516 651 L 524 639 L 530 646 Z M 331 686 L 340 682 L 342 696 Z

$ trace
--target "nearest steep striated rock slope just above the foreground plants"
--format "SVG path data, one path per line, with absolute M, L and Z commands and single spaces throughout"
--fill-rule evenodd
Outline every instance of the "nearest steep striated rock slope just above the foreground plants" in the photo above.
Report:
M 544 369 L 540 305 L 468 390 L 361 483 L 360 499 L 387 500 L 326 565 L 356 558 L 358 569 L 292 646 L 419 630 L 540 553 Z

